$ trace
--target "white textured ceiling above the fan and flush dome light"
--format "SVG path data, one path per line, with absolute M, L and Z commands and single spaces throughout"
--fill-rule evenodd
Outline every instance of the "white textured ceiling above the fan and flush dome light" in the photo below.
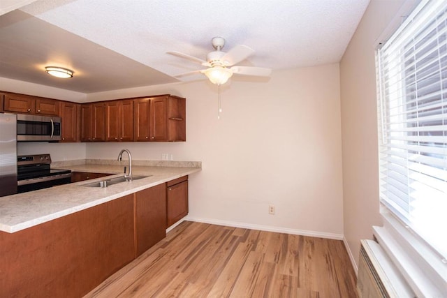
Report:
M 336 63 L 369 0 L 45 0 L 8 13 L 11 2 L 0 1 L 0 77 L 91 93 L 177 82 L 203 66 L 166 52 L 205 59 L 214 36 L 226 39 L 224 52 L 255 50 L 238 65 Z M 50 64 L 75 75 L 50 77 Z

